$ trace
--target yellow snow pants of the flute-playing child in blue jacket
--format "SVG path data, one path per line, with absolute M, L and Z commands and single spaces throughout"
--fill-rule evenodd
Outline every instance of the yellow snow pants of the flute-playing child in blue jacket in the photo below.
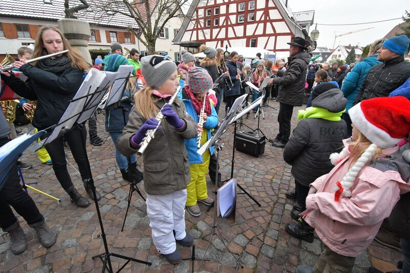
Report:
M 201 145 L 208 141 L 207 130 L 202 132 Z M 190 164 L 191 181 L 187 185 L 187 206 L 193 206 L 196 201 L 208 198 L 207 178 L 209 159 L 211 153 L 209 149 L 203 153 L 202 163 Z

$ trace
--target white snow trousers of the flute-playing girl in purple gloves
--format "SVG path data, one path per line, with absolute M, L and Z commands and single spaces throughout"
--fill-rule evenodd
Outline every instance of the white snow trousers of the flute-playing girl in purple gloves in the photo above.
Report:
M 185 203 L 187 190 L 166 195 L 147 194 L 147 215 L 150 218 L 152 241 L 160 254 L 176 250 L 176 240 L 187 236 L 185 232 Z M 175 230 L 175 238 L 172 230 Z

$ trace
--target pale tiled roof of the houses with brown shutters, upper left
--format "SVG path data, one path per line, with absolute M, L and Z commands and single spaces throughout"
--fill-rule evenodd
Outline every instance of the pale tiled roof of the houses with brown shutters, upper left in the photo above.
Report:
M 66 16 L 64 12 L 64 0 L 52 0 L 51 2 L 52 4 L 45 4 L 43 0 L 1 0 L 0 16 L 38 18 L 53 21 L 64 18 Z M 71 0 L 70 8 L 79 4 L 81 4 L 81 2 Z M 131 26 L 137 28 L 135 20 L 126 15 L 117 13 L 113 16 L 103 16 L 101 13 L 93 12 L 93 7 L 90 3 L 89 6 L 87 10 L 81 10 L 74 15 L 79 19 L 86 20 L 90 24 L 120 28 Z

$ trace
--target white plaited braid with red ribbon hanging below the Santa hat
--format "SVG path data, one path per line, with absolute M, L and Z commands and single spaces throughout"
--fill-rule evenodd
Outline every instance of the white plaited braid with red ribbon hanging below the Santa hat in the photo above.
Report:
M 351 169 L 344 175 L 341 185 L 343 187 L 343 192 L 341 196 L 351 197 L 352 192 L 350 188 L 353 186 L 353 183 L 356 180 L 356 177 L 359 175 L 359 172 L 362 170 L 363 166 L 370 161 L 377 152 L 377 145 L 370 144 L 359 159 L 353 164 Z M 334 188 L 335 192 L 339 190 L 339 187 L 336 185 Z

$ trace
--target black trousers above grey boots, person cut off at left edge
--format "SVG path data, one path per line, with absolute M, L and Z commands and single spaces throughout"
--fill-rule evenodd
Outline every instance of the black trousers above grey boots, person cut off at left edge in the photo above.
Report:
M 0 139 L 0 146 L 10 140 L 7 137 Z M 28 224 L 35 224 L 43 221 L 43 215 L 38 211 L 33 199 L 22 189 L 20 178 L 17 175 L 17 166 L 14 164 L 6 182 L 0 191 L 0 227 L 4 229 L 17 222 L 10 206 L 16 213 L 21 215 Z

